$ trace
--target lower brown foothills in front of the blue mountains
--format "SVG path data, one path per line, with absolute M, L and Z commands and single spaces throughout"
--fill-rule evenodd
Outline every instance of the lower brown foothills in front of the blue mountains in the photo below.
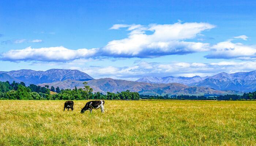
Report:
M 98 80 L 87 81 L 88 85 L 94 89 L 93 92 L 122 92 L 130 90 L 132 92 L 138 92 L 145 95 L 204 95 L 204 94 L 216 94 L 225 95 L 232 94 L 232 91 L 218 91 L 212 88 L 204 87 L 188 87 L 187 85 L 178 83 L 169 84 L 151 84 L 145 82 L 126 81 L 126 80 L 114 80 L 112 78 L 101 78 Z M 45 85 L 59 87 L 59 88 L 83 88 L 83 81 L 77 80 L 65 80 L 52 83 L 39 84 L 44 87 Z M 236 92 L 237 93 L 237 92 Z

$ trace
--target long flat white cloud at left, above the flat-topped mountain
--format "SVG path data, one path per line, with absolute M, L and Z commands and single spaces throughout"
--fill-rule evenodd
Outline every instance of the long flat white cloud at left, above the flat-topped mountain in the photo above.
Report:
M 27 47 L 21 50 L 10 50 L 2 54 L 4 61 L 55 61 L 65 62 L 91 57 L 95 55 L 97 49 L 71 50 L 63 46 L 34 49 Z

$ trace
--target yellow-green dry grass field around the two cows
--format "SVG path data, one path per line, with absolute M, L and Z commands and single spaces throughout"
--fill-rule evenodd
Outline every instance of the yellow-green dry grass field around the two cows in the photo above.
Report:
M 0 145 L 256 145 L 255 101 L 0 100 Z

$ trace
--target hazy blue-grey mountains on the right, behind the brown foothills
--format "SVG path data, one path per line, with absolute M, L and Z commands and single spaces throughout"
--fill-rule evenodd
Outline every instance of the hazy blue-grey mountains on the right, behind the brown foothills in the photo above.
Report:
M 143 77 L 138 82 L 172 83 L 177 82 L 192 87 L 209 87 L 216 90 L 251 92 L 256 90 L 256 70 L 252 72 L 219 73 L 214 76 L 194 77 Z

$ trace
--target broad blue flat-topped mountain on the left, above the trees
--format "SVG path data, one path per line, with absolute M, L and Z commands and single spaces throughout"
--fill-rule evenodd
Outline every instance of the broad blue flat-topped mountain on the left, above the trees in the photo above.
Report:
M 48 83 L 54 81 L 64 81 L 64 80 L 92 80 L 93 78 L 88 74 L 81 72 L 79 70 L 71 70 L 71 69 L 49 69 L 46 71 L 35 71 L 30 69 L 22 69 L 22 70 L 12 70 L 10 72 L 1 73 L 7 74 L 11 76 L 8 81 L 12 82 L 13 80 L 23 81 L 25 83 L 30 84 L 40 84 L 40 83 Z M 3 81 L 6 81 L 3 78 Z

